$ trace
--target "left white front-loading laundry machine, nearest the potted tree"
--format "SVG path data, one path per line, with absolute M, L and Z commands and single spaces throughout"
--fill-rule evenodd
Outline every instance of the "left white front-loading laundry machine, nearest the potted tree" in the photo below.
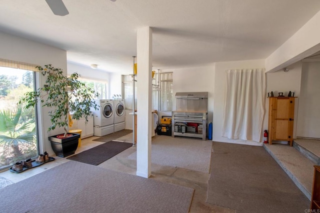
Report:
M 95 99 L 98 109 L 92 109 L 93 135 L 103 136 L 114 132 L 114 106 L 112 99 Z

